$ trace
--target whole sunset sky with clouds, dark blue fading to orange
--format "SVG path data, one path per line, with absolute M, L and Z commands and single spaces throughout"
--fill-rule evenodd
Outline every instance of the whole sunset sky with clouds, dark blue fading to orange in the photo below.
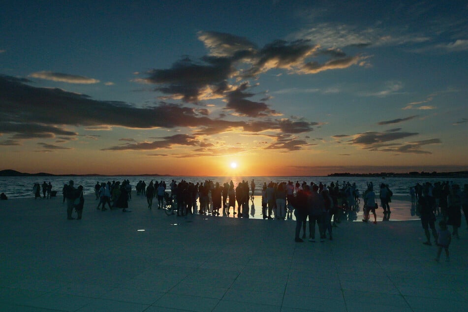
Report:
M 0 170 L 468 170 L 468 1 L 8 2 Z

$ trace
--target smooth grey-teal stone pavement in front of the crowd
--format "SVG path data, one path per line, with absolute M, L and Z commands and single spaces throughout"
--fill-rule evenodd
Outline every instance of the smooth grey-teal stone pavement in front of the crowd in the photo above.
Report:
M 422 312 L 468 303 L 465 222 L 451 261 L 442 254 L 437 263 L 420 221 L 344 221 L 333 241 L 295 243 L 292 220 L 178 218 L 136 195 L 131 213 L 95 204 L 88 195 L 83 219 L 66 220 L 61 198 L 0 202 L 0 311 Z

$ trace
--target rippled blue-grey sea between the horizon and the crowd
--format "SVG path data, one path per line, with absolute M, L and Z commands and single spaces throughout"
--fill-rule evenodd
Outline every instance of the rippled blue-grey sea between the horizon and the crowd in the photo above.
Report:
M 93 193 L 94 192 L 94 185 L 96 182 L 107 182 L 107 181 L 124 181 L 129 180 L 130 184 L 133 186 L 132 189 L 135 189 L 136 184 L 138 181 L 145 181 L 148 185 L 151 180 L 153 181 L 165 181 L 166 184 L 169 186 L 172 180 L 176 180 L 180 182 L 181 180 L 185 180 L 187 182 L 204 182 L 205 180 L 212 180 L 214 182 L 219 182 L 219 184 L 223 184 L 224 182 L 230 182 L 231 180 L 237 185 L 238 182 L 242 182 L 243 180 L 250 181 L 252 179 L 255 180 L 256 189 L 261 189 L 263 183 L 269 183 L 270 181 L 273 182 L 284 182 L 284 181 L 299 181 L 302 183 L 306 181 L 308 184 L 311 182 L 319 183 L 322 182 L 323 184 L 329 185 L 331 182 L 336 183 L 339 182 L 340 185 L 344 182 L 349 183 L 356 183 L 357 188 L 361 190 L 366 189 L 367 183 L 372 182 L 374 186 L 380 185 L 381 183 L 388 184 L 390 189 L 393 191 L 395 195 L 406 195 L 409 193 L 409 187 L 416 185 L 416 183 L 425 183 L 431 182 L 435 183 L 437 181 L 447 181 L 446 179 L 441 178 L 358 178 L 358 177 L 138 177 L 138 176 L 115 176 L 115 177 L 0 177 L 0 192 L 3 192 L 8 196 L 8 198 L 29 198 L 34 197 L 32 193 L 32 187 L 34 183 L 42 184 L 44 181 L 46 183 L 52 184 L 52 190 L 56 190 L 58 195 L 62 194 L 62 187 L 68 181 L 73 180 L 75 187 L 82 185 L 84 188 L 85 193 Z M 468 179 L 465 178 L 457 178 L 457 179 L 450 179 L 449 181 L 453 181 L 454 184 L 459 184 L 463 186 L 468 184 Z

